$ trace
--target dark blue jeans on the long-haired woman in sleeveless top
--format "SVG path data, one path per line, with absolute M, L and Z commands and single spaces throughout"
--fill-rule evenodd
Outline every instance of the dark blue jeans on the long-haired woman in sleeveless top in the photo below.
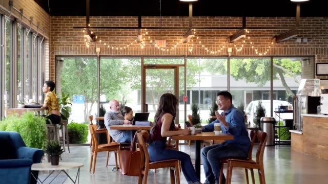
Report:
M 181 151 L 166 149 L 165 141 L 154 141 L 148 146 L 148 153 L 151 162 L 156 162 L 159 160 L 166 159 L 178 159 L 181 162 L 181 170 L 183 175 L 185 175 L 188 182 L 199 181 L 196 176 L 196 171 L 191 163 L 189 154 L 183 153 Z M 176 168 L 177 169 L 177 168 Z M 177 171 L 179 172 L 179 171 Z

